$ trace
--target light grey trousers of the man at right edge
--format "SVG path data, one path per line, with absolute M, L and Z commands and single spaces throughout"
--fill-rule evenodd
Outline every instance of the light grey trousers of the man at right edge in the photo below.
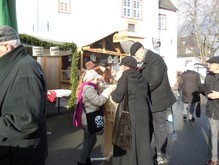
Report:
M 218 146 L 219 120 L 208 118 L 208 121 L 210 125 L 209 157 L 210 157 L 210 160 L 217 161 L 218 160 L 217 146 Z

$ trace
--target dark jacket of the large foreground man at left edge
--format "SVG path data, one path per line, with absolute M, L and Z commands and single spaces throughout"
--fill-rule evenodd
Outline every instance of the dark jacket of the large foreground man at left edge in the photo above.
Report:
M 0 91 L 0 145 L 46 156 L 46 79 L 22 45 L 0 58 Z

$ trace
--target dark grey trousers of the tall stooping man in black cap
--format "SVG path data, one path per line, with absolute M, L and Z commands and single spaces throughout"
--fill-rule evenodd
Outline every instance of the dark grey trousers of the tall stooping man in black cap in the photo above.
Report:
M 157 153 L 166 154 L 167 148 L 167 124 L 166 110 L 152 113 L 154 140 Z

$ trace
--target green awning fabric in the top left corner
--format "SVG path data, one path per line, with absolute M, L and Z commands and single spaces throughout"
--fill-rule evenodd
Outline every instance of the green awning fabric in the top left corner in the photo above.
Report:
M 0 25 L 17 30 L 16 0 L 0 0 Z

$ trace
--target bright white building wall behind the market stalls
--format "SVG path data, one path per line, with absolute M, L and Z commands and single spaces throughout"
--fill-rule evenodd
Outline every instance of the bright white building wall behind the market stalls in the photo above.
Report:
M 70 14 L 58 12 L 58 1 L 19 0 L 18 32 L 47 40 L 74 42 L 80 47 L 115 31 L 127 31 L 128 23 L 134 22 L 136 32 L 129 32 L 128 35 L 143 38 L 145 47 L 164 56 L 170 83 L 174 85 L 176 68 L 173 61 L 176 59 L 177 48 L 176 14 L 162 11 L 167 14 L 168 30 L 160 32 L 158 30 L 159 0 L 142 0 L 142 6 L 142 20 L 132 20 L 122 17 L 122 0 L 71 0 Z M 153 48 L 152 38 L 161 39 L 159 49 Z

